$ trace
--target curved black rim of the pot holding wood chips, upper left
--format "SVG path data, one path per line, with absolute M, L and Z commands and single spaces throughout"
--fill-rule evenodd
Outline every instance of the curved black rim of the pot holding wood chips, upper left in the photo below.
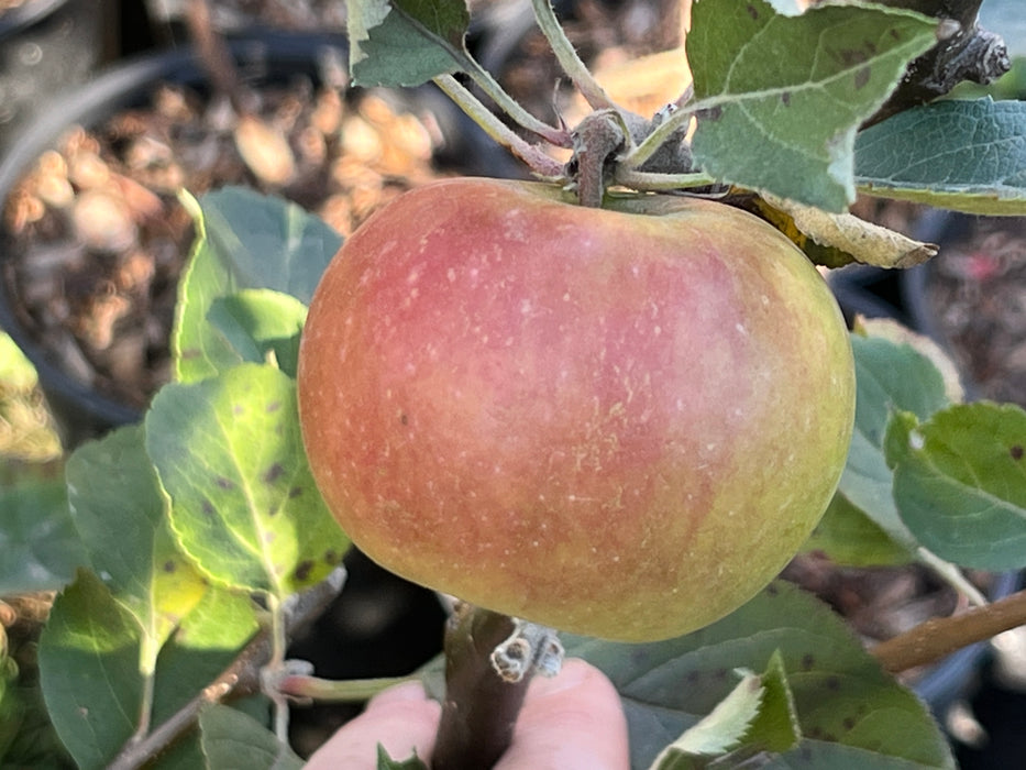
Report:
M 346 61 L 346 43 L 339 35 L 264 34 L 231 43 L 240 66 L 258 67 L 266 74 L 288 76 L 316 74 L 318 56 L 341 56 Z M 40 155 L 51 150 L 73 124 L 95 125 L 118 109 L 141 105 L 155 84 L 175 81 L 201 85 L 203 73 L 190 48 L 141 56 L 115 65 L 81 87 L 58 95 L 32 123 L 19 133 L 0 164 L 0 201 L 31 168 Z M 0 253 L 0 266 L 13 258 Z M 66 441 L 74 446 L 82 438 L 139 421 L 142 413 L 79 382 L 56 363 L 19 320 L 11 297 L 12 287 L 0 280 L 0 328 L 25 353 L 38 373 Z

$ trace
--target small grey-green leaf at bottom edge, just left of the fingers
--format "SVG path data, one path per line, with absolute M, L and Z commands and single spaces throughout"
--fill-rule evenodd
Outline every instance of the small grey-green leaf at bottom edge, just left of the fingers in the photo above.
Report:
M 200 712 L 203 757 L 211 770 L 299 770 L 302 760 L 253 717 L 229 706 Z

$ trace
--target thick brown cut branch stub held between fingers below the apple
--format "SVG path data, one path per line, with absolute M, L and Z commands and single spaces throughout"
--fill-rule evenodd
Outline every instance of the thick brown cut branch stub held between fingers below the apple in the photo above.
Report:
M 531 675 L 554 673 L 551 629 L 460 604 L 445 628 L 445 698 L 433 770 L 492 768 L 509 748 Z

